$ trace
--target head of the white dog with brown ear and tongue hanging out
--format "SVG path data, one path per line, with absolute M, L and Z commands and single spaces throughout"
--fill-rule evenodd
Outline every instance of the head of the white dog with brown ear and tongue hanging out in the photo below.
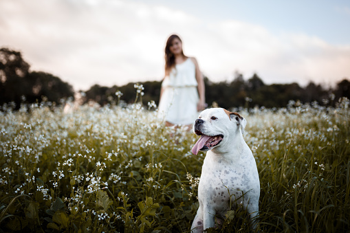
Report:
M 212 148 L 230 143 L 237 133 L 244 133 L 247 121 L 238 113 L 226 109 L 206 109 L 199 114 L 193 125 L 193 132 L 201 137 L 192 148 L 192 153 L 209 151 Z M 231 139 L 230 139 L 231 138 Z

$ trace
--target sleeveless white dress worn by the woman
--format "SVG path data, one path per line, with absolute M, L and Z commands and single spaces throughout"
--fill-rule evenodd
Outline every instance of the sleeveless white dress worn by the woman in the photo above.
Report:
M 194 124 L 198 117 L 199 95 L 195 78 L 195 63 L 187 58 L 175 65 L 162 82 L 162 98 L 158 116 L 171 124 Z

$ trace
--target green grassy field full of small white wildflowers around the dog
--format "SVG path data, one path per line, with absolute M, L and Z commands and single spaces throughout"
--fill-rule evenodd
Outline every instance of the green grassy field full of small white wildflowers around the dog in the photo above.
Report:
M 261 182 L 259 231 L 349 232 L 349 100 L 239 111 Z M 189 232 L 198 137 L 128 107 L 0 113 L 0 232 Z M 248 232 L 244 212 L 221 230 Z

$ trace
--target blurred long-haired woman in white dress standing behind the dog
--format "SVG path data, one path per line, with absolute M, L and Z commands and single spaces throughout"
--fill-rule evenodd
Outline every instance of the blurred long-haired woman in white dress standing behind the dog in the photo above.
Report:
M 165 77 L 160 91 L 159 113 L 166 126 L 195 122 L 205 109 L 203 75 L 196 58 L 184 55 L 182 40 L 173 34 L 165 47 Z

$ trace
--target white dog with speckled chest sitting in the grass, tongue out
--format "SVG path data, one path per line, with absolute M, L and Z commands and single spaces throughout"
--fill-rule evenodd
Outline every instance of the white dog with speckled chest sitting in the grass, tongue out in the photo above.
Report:
M 208 151 L 198 187 L 199 208 L 193 232 L 215 226 L 215 214 L 225 217 L 230 203 L 243 206 L 252 228 L 259 212 L 260 182 L 252 151 L 243 140 L 246 120 L 226 109 L 206 109 L 195 121 L 193 131 L 201 135 L 192 152 Z

